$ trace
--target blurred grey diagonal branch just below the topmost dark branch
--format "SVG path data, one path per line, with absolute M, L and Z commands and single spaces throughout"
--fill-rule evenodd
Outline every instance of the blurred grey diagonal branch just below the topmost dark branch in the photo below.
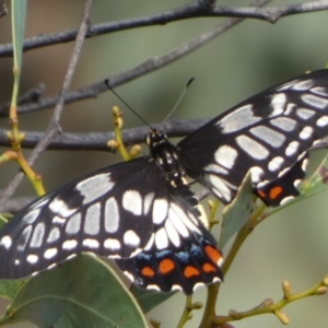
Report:
M 255 1 L 255 5 L 263 5 L 268 3 L 270 0 L 260 0 Z M 110 86 L 116 87 L 129 81 L 136 80 L 147 73 L 155 71 L 166 65 L 172 63 L 173 61 L 187 56 L 188 54 L 192 52 L 194 50 L 198 49 L 199 47 L 203 46 L 206 43 L 210 42 L 215 36 L 221 35 L 223 32 L 226 32 L 231 27 L 235 26 L 236 24 L 241 23 L 243 19 L 230 19 L 225 22 L 216 25 L 211 31 L 208 31 L 198 37 L 191 39 L 190 42 L 184 44 L 183 46 L 161 56 L 157 58 L 151 58 L 145 60 L 144 62 L 138 65 L 137 67 L 127 70 L 120 74 L 114 75 L 109 78 Z M 94 98 L 99 93 L 107 91 L 107 86 L 105 85 L 104 81 L 96 82 L 92 85 L 80 89 L 78 91 L 72 91 L 67 93 L 65 102 L 67 104 L 86 99 L 86 98 Z M 57 102 L 57 96 L 47 97 L 40 99 L 38 103 L 28 104 L 25 106 L 19 107 L 19 114 L 31 113 L 34 110 L 40 110 L 44 108 L 52 107 Z M 4 105 L 0 105 L 0 116 L 8 116 L 8 107 Z

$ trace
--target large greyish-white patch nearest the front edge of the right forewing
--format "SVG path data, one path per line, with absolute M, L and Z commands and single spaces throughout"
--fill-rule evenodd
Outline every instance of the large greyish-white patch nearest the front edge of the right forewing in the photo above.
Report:
M 216 125 L 221 127 L 222 133 L 236 132 L 258 122 L 261 118 L 254 116 L 251 108 L 251 105 L 242 106 L 218 121 Z

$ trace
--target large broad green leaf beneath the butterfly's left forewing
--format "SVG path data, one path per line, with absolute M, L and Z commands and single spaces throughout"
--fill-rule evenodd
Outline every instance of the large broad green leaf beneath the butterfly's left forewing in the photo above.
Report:
M 148 327 L 116 273 L 86 254 L 26 281 L 0 317 L 0 326 L 19 321 L 42 328 Z

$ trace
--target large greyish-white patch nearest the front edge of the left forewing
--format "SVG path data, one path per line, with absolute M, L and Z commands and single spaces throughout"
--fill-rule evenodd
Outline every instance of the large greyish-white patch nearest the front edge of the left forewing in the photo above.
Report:
M 112 190 L 113 187 L 114 183 L 110 181 L 110 174 L 102 173 L 79 183 L 75 189 L 84 196 L 83 204 L 86 204 L 104 196 Z

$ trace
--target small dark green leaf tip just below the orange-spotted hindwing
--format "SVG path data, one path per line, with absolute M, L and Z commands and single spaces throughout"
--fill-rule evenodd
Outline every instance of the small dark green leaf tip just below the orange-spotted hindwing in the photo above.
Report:
M 136 288 L 136 285 L 131 286 L 131 292 L 144 313 L 149 313 L 151 309 L 176 294 L 176 292 L 161 293 L 155 291 L 145 291 Z

